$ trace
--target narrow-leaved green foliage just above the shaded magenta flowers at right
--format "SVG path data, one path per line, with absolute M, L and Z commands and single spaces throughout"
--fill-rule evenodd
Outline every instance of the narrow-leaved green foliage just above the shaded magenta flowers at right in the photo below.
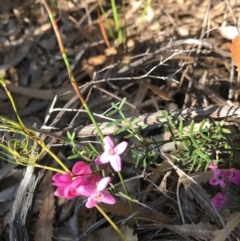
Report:
M 206 170 L 213 159 L 223 161 L 219 158 L 219 152 L 232 152 L 226 148 L 231 146 L 231 133 L 224 128 L 224 121 L 217 124 L 205 119 L 196 124 L 191 120 L 187 125 L 183 120 L 174 119 L 166 112 L 163 112 L 163 115 L 167 119 L 163 125 L 165 130 L 171 133 L 170 140 L 174 142 L 176 149 L 172 154 L 182 163 L 190 163 L 190 170 Z

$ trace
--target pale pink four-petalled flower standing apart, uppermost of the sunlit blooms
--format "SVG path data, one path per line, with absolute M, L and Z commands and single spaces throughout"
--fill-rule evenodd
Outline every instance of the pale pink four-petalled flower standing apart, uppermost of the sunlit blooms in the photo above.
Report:
M 97 165 L 110 162 L 116 172 L 122 170 L 120 155 L 126 150 L 128 143 L 123 141 L 115 146 L 110 136 L 105 136 L 103 140 L 104 152 L 95 160 Z

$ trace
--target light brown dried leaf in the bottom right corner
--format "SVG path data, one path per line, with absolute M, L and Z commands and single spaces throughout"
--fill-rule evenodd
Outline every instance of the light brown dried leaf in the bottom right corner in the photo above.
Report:
M 213 235 L 215 238 L 213 241 L 224 241 L 228 237 L 228 233 L 230 234 L 234 228 L 239 224 L 240 220 L 240 212 L 236 212 L 231 214 L 231 216 L 227 219 L 226 227 L 220 230 L 216 230 Z

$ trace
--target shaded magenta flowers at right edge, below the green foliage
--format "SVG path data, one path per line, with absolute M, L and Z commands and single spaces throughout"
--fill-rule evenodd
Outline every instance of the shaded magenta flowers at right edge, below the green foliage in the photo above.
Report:
M 210 163 L 209 168 L 213 172 L 213 177 L 209 181 L 211 185 L 215 186 L 219 184 L 221 188 L 225 188 L 227 183 L 240 185 L 240 170 L 232 168 L 227 171 L 223 171 L 218 169 L 214 163 Z M 227 201 L 227 197 L 220 192 L 212 198 L 212 203 L 217 210 L 221 209 Z

